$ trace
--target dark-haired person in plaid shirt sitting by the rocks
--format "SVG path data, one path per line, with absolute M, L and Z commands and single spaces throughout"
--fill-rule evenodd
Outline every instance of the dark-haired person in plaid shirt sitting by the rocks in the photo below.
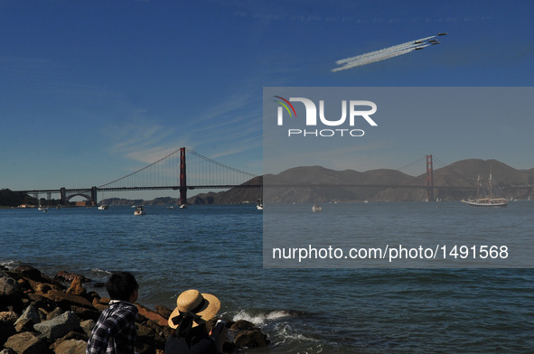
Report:
M 134 354 L 137 290 L 134 275 L 116 272 L 106 283 L 111 301 L 98 318 L 87 343 L 86 354 Z

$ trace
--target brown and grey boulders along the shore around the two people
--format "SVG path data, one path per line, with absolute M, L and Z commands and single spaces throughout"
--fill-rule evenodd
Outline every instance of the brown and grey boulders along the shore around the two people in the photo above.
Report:
M 85 354 L 89 334 L 109 298 L 83 286 L 89 279 L 61 271 L 54 278 L 32 266 L 0 267 L 0 354 Z M 67 284 L 70 283 L 70 286 Z M 161 354 L 171 335 L 164 306 L 136 303 L 136 352 Z M 218 319 L 208 322 L 208 329 Z M 266 347 L 267 335 L 248 321 L 227 321 L 225 353 Z

